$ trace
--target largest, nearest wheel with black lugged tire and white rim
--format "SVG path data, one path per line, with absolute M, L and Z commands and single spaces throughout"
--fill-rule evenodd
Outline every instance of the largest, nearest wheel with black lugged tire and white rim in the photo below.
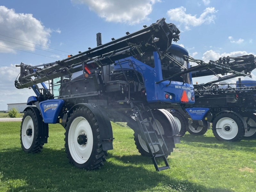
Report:
M 72 122 L 76 123 L 76 121 L 79 121 L 78 118 L 80 118 L 80 117 L 82 118 L 83 121 L 85 120 L 84 121 L 85 123 L 86 122 L 89 123 L 89 125 L 86 124 L 87 130 L 85 131 L 85 135 L 88 136 L 87 143 L 84 145 L 81 145 L 84 148 L 88 147 L 87 149 L 90 149 L 90 146 L 92 146 L 91 152 L 89 152 L 89 153 L 86 152 L 86 153 L 82 154 L 82 158 L 86 158 L 86 157 L 83 157 L 86 155 L 89 156 L 89 158 L 87 160 L 80 158 L 80 156 L 76 152 L 76 150 L 72 150 L 72 147 L 74 147 L 75 144 L 73 145 L 71 143 L 69 145 L 69 142 L 68 142 L 68 138 L 70 140 L 72 140 L 72 137 L 70 135 L 73 134 L 73 129 L 74 129 L 75 125 L 74 126 L 72 125 L 72 127 L 70 127 L 70 126 L 71 126 Z M 74 121 L 75 119 L 76 119 L 76 121 Z M 89 126 L 91 128 L 91 132 L 90 132 Z M 83 127 L 83 126 L 81 126 L 81 127 Z M 75 129 L 76 128 L 77 127 L 75 127 Z M 80 169 L 86 169 L 86 170 L 99 169 L 100 166 L 103 165 L 103 162 L 106 161 L 106 156 L 108 156 L 108 153 L 107 153 L 107 151 L 103 151 L 102 144 L 100 142 L 100 129 L 99 129 L 97 120 L 96 120 L 95 116 L 93 115 L 92 111 L 86 107 L 76 108 L 68 117 L 68 121 L 66 123 L 65 129 L 66 129 L 66 132 L 65 132 L 64 140 L 65 140 L 66 153 L 67 153 L 69 163 L 80 168 Z M 70 129 L 72 129 L 72 131 L 70 131 Z M 80 133 L 80 135 L 81 135 L 81 133 Z M 91 135 L 91 136 L 89 136 L 89 135 Z M 75 137 L 76 137 L 76 135 L 74 133 L 73 138 L 75 138 Z M 74 139 L 74 141 L 75 141 L 75 139 Z M 90 144 L 90 146 L 89 146 L 89 144 Z M 81 153 L 83 153 L 83 150 L 84 149 L 81 150 L 82 151 Z M 72 156 L 72 154 L 73 154 L 73 156 Z M 77 154 L 77 156 L 76 156 L 76 154 Z

